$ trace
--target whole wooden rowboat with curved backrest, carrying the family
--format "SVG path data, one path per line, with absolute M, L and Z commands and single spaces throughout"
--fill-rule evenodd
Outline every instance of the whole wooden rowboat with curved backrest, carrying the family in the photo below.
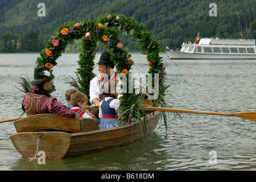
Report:
M 158 124 L 161 112 L 149 114 L 146 135 Z M 38 151 L 46 159 L 82 156 L 127 146 L 141 138 L 137 122 L 99 130 L 93 119 L 71 119 L 57 114 L 37 114 L 14 122 L 17 134 L 11 141 L 25 158 L 34 158 Z

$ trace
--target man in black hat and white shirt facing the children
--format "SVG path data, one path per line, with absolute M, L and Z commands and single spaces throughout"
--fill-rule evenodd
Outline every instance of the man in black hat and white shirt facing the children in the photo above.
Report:
M 90 102 L 99 107 L 102 100 L 103 85 L 110 80 L 117 81 L 117 73 L 113 70 L 114 62 L 111 61 L 109 52 L 103 52 L 97 64 L 99 75 L 90 81 Z M 90 113 L 98 118 L 99 110 L 96 108 L 91 110 Z

